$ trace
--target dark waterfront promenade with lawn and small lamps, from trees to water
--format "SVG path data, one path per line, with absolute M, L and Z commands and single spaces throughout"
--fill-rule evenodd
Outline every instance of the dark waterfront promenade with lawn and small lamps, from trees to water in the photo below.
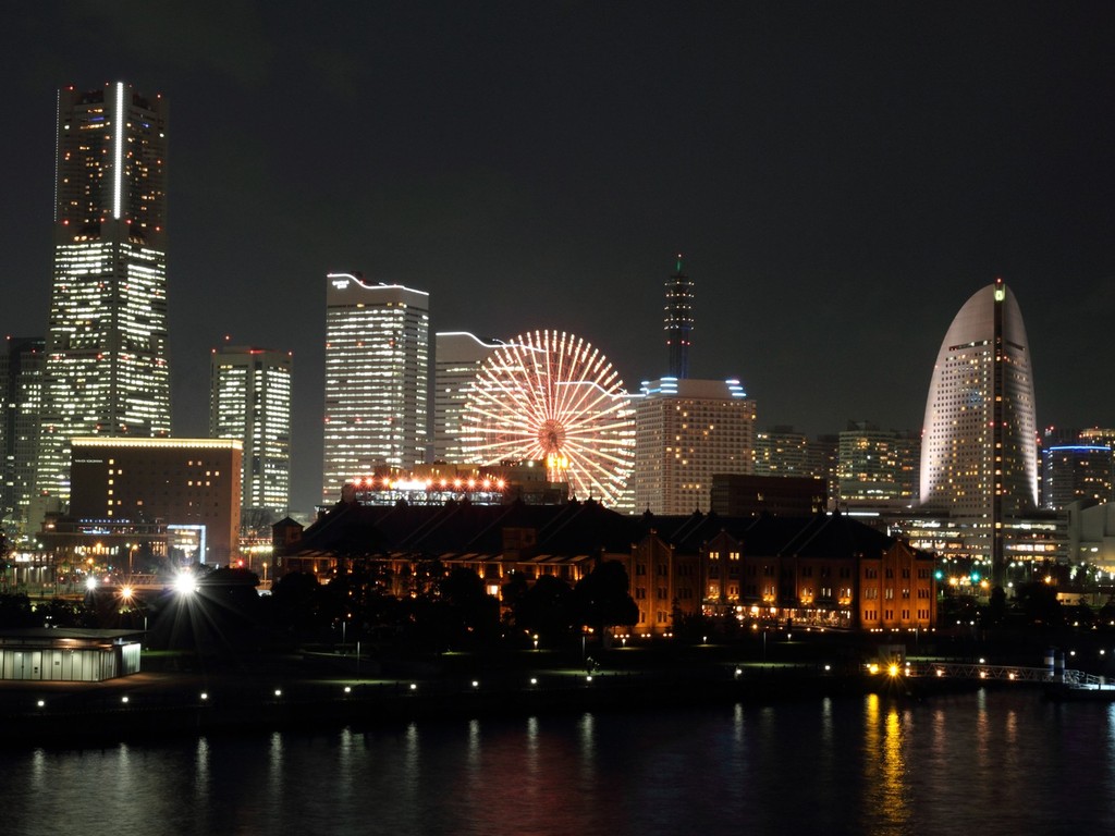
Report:
M 738 647 L 615 649 L 602 654 L 602 667 L 593 664 L 591 672 L 578 655 L 545 651 L 388 661 L 320 652 L 209 663 L 145 653 L 143 672 L 106 682 L 0 682 L 0 745 L 87 747 L 181 735 L 328 730 L 493 713 L 638 711 L 872 690 L 909 698 L 981 684 L 872 673 L 863 652 L 849 652 L 846 644 L 830 642 L 796 654 L 772 647 L 760 659 Z

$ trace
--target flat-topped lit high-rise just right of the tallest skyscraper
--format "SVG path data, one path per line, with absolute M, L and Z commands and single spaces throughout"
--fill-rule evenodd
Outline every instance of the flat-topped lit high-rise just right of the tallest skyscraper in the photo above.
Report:
M 243 444 L 241 504 L 277 518 L 290 506 L 291 354 L 223 346 L 210 358 L 210 437 Z

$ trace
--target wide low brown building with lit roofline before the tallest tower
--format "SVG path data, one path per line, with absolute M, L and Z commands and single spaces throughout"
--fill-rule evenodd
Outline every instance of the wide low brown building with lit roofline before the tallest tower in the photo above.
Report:
M 72 439 L 71 450 L 72 490 L 62 525 L 75 542 L 95 539 L 112 551 L 165 537 L 168 554 L 177 552 L 183 564 L 235 560 L 239 439 L 90 437 Z

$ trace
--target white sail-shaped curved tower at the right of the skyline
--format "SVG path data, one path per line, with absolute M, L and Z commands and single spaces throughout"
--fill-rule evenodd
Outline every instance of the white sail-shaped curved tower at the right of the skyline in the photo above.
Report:
M 1004 524 L 1037 507 L 1037 424 L 1026 328 L 997 279 L 949 325 L 925 401 L 921 504 L 966 521 L 973 555 L 1004 572 Z

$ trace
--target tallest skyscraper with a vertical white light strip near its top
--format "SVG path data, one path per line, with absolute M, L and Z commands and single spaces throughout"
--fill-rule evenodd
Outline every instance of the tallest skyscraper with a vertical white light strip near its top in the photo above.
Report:
M 60 502 L 75 436 L 171 432 L 166 147 L 158 96 L 123 81 L 59 91 L 37 484 Z

